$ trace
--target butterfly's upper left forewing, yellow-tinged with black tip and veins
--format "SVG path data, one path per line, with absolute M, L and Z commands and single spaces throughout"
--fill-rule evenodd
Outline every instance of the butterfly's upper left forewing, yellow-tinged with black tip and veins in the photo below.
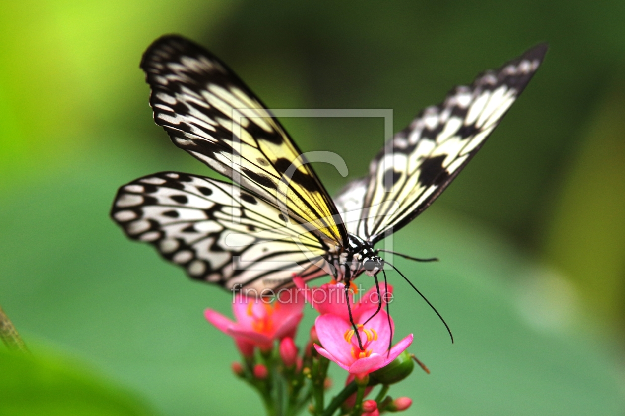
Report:
M 154 121 L 176 146 L 329 243 L 346 245 L 346 230 L 334 221 L 336 207 L 311 165 L 226 64 L 187 39 L 164 36 L 148 48 L 141 68 Z

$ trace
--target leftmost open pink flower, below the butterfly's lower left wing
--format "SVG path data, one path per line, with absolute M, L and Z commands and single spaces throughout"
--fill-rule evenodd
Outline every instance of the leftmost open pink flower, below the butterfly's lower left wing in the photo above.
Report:
M 295 336 L 303 316 L 304 303 L 297 302 L 294 292 L 294 289 L 282 291 L 282 296 L 273 303 L 264 302 L 261 298 L 236 295 L 232 303 L 236 322 L 212 309 L 207 309 L 204 316 L 217 329 L 233 337 L 245 357 L 251 357 L 254 347 L 270 350 L 274 340 Z

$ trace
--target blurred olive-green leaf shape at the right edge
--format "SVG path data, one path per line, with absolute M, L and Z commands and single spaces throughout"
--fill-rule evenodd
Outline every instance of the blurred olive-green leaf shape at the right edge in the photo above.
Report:
M 595 317 L 625 331 L 625 83 L 613 83 L 583 131 L 545 231 L 547 260 Z

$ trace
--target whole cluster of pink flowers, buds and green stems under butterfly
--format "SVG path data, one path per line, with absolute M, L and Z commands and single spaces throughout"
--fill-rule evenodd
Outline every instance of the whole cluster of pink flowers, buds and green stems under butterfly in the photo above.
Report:
M 296 415 L 308 405 L 312 415 L 332 415 L 340 407 L 341 414 L 377 416 L 408 408 L 410 398 L 387 395 L 389 386 L 414 367 L 414 356 L 406 352 L 412 334 L 391 343 L 394 324 L 383 306 L 392 299 L 392 287 L 372 287 L 356 299 L 351 289 L 346 296 L 343 283 L 309 288 L 297 277 L 294 283 L 296 288 L 281 290 L 272 300 L 239 293 L 232 305 L 234 321 L 211 309 L 205 313 L 212 325 L 234 338 L 243 360 L 233 363 L 232 371 L 260 393 L 267 413 Z M 304 303 L 319 316 L 300 350 L 294 338 Z M 348 375 L 342 391 L 326 403 L 330 362 Z M 376 398 L 366 400 L 378 384 Z

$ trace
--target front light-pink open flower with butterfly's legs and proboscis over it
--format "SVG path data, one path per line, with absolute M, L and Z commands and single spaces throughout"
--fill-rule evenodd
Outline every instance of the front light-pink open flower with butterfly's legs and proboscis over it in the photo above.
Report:
M 361 350 L 349 322 L 331 313 L 321 315 L 315 320 L 315 327 L 322 347 L 317 344 L 314 347 L 320 355 L 336 362 L 357 378 L 365 377 L 391 363 L 412 343 L 410 334 L 394 345 L 390 352 L 387 351 L 391 335 L 387 317 L 386 312 L 381 310 L 367 325 L 357 322 L 362 341 Z M 367 318 L 361 316 L 362 322 Z

